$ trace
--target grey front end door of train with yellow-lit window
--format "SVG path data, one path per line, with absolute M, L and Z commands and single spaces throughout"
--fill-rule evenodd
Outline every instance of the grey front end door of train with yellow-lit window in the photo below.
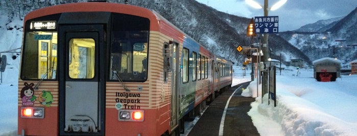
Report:
M 59 28 L 60 135 L 104 134 L 103 25 Z

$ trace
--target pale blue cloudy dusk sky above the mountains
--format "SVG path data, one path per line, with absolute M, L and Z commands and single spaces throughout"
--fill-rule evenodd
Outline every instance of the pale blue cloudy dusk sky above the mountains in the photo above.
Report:
M 254 9 L 245 0 L 196 0 L 219 11 L 252 18 L 263 16 L 263 9 Z M 253 0 L 264 5 L 264 0 Z M 269 8 L 279 0 L 270 0 Z M 288 0 L 282 7 L 269 11 L 269 16 L 279 16 L 279 31 L 295 30 L 318 20 L 344 17 L 357 7 L 356 0 Z

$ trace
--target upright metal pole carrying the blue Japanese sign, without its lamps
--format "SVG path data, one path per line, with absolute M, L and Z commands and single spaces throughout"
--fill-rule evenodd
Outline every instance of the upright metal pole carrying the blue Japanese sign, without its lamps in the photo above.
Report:
M 268 16 L 268 0 L 264 0 L 264 16 Z M 268 33 L 265 33 L 263 36 L 263 54 L 264 54 L 263 62 L 265 64 L 268 63 L 268 58 L 270 57 L 269 48 L 268 48 L 268 37 L 269 37 Z M 264 94 L 268 93 L 268 73 L 267 72 L 263 73 L 263 81 L 264 81 L 263 88 L 262 88 L 263 94 L 261 94 L 261 97 L 263 97 Z

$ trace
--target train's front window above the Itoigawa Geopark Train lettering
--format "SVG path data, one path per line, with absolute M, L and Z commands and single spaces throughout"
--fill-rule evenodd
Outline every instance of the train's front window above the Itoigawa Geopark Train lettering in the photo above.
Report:
M 148 31 L 113 31 L 110 80 L 146 80 L 148 35 Z

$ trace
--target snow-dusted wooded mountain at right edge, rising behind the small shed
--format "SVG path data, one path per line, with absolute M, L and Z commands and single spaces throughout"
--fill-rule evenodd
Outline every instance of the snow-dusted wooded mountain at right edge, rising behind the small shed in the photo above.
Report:
M 334 21 L 320 20 L 279 36 L 301 50 L 312 61 L 323 57 L 341 60 L 343 67 L 357 59 L 357 8 Z M 330 22 L 330 23 L 328 23 Z

